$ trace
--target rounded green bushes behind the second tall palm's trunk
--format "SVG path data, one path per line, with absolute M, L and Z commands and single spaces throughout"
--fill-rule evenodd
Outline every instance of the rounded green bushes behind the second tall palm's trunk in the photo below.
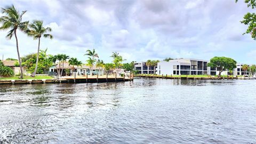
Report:
M 38 57 L 38 66 L 36 74 L 44 74 L 52 66 L 52 56 L 46 54 L 46 50 L 40 50 Z M 22 65 L 27 68 L 27 71 L 33 73 L 36 67 L 36 53 L 31 53 L 21 58 Z

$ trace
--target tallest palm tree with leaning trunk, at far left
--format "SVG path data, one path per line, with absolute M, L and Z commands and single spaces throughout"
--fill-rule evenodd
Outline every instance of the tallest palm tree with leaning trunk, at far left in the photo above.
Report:
M 0 27 L 0 30 L 11 29 L 10 31 L 8 31 L 8 34 L 6 35 L 6 38 L 8 38 L 8 39 L 11 39 L 13 34 L 15 36 L 19 65 L 20 65 L 20 77 L 19 78 L 23 78 L 17 30 L 19 29 L 22 32 L 27 31 L 27 26 L 28 26 L 29 21 L 22 21 L 22 16 L 23 16 L 23 14 L 26 13 L 26 11 L 22 11 L 21 13 L 19 13 L 19 11 L 15 9 L 14 5 L 12 5 L 10 7 L 7 7 L 6 9 L 2 9 L 2 12 L 3 12 L 3 14 L 6 14 L 6 15 L 4 15 L 0 18 L 0 22 L 3 23 L 3 25 Z

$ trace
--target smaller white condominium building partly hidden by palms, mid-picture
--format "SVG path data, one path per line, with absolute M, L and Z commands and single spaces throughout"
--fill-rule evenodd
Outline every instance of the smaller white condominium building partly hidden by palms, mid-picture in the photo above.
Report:
M 134 70 L 137 70 L 139 74 L 154 74 L 156 73 L 157 66 L 147 66 L 146 61 L 134 62 Z

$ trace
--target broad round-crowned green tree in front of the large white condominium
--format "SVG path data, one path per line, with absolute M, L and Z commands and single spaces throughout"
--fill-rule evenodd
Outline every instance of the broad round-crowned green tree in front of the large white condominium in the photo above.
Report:
M 213 57 L 209 63 L 207 63 L 207 67 L 219 68 L 219 76 L 222 71 L 232 70 L 236 68 L 236 61 L 231 58 L 226 57 Z

